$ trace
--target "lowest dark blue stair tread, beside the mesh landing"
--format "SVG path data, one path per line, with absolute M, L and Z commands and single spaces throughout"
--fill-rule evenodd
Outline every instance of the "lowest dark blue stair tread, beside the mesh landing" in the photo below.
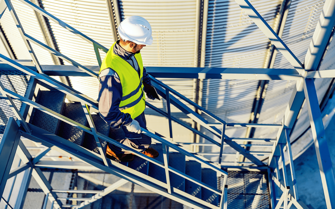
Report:
M 216 172 L 212 169 L 201 169 L 201 181 L 213 188 L 217 188 L 217 177 Z M 215 197 L 213 200 L 212 197 Z M 210 202 L 211 204 L 217 206 L 218 204 L 218 198 L 216 193 L 213 193 L 212 191 L 209 191 L 208 189 L 201 188 L 201 199 Z

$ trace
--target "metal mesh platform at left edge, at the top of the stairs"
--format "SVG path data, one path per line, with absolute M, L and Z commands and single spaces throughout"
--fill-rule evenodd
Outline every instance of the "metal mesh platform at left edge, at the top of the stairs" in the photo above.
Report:
M 30 76 L 21 71 L 0 71 L 0 81 L 2 85 L 21 96 L 24 96 L 29 85 Z M 6 97 L 7 98 L 7 97 Z M 21 102 L 13 99 L 17 109 L 21 109 Z M 16 117 L 10 109 L 8 102 L 3 96 L 0 97 L 0 141 L 5 131 L 9 117 Z

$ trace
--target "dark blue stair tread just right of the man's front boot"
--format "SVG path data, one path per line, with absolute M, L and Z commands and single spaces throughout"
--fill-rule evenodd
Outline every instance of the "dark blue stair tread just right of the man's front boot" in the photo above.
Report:
M 162 144 L 152 144 L 150 147 L 159 152 L 159 156 L 157 158 L 155 158 L 155 160 L 157 160 L 161 163 L 164 163 Z M 166 183 L 165 169 L 160 168 L 157 165 L 149 163 L 149 173 L 148 173 L 148 175 L 152 178 L 155 178 L 155 179 L 157 179 L 161 182 Z

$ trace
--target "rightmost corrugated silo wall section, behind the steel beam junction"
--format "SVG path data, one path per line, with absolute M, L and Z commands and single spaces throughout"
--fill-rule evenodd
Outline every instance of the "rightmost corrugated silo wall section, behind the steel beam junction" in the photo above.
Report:
M 287 21 L 285 23 L 282 39 L 298 57 L 304 62 L 307 49 L 319 20 L 324 1 L 292 1 Z M 330 43 L 328 52 L 319 70 L 331 68 L 331 61 L 334 56 L 334 41 Z M 293 68 L 288 61 L 280 54 L 277 54 L 274 68 Z M 315 79 L 315 86 L 319 103 L 322 101 L 332 79 Z M 288 101 L 292 94 L 295 81 L 269 81 L 266 96 L 259 115 L 258 123 L 281 124 Z M 291 142 L 296 140 L 310 126 L 307 105 L 304 103 L 298 114 L 298 119 L 291 132 Z M 256 128 L 255 138 L 276 138 L 277 128 Z M 253 142 L 252 144 L 256 144 Z M 271 143 L 269 143 L 271 144 Z M 271 151 L 268 148 L 253 148 L 253 151 Z M 265 157 L 264 157 L 265 158 Z

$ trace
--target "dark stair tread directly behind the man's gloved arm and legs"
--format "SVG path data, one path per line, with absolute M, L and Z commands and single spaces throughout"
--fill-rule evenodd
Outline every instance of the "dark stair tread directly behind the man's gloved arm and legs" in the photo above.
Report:
M 92 119 L 93 119 L 93 122 L 96 128 L 96 131 L 108 136 L 110 126 L 105 122 L 105 120 L 102 117 L 100 117 L 99 114 L 92 115 Z M 107 142 L 100 138 L 99 138 L 99 141 L 103 148 L 104 153 L 106 153 Z M 83 147 L 85 147 L 86 149 L 92 150 L 95 153 L 100 154 L 98 146 L 92 134 L 85 133 Z

